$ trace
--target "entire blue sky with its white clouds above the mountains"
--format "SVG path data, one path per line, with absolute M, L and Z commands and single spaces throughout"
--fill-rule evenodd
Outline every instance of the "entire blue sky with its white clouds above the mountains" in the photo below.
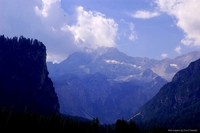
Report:
M 53 62 L 101 46 L 174 58 L 200 50 L 199 7 L 199 0 L 0 0 L 0 34 L 42 41 Z

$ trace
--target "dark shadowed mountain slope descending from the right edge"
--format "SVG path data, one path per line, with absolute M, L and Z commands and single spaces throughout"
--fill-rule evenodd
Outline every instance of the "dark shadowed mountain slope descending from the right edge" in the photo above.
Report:
M 200 129 L 200 59 L 177 72 L 132 119 L 146 126 Z

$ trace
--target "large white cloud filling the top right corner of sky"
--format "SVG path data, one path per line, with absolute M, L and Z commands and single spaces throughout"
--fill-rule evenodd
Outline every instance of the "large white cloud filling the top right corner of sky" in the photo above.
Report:
M 155 0 L 159 9 L 176 18 L 176 25 L 185 36 L 181 43 L 200 46 L 200 1 L 199 0 Z

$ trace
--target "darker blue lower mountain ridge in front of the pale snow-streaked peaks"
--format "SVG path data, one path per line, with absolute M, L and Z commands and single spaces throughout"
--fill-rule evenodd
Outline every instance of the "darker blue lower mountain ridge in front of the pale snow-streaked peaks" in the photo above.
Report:
M 129 118 L 165 83 L 160 77 L 143 85 L 135 81 L 109 82 L 101 73 L 84 78 L 68 74 L 53 81 L 62 114 L 98 117 L 102 123 Z

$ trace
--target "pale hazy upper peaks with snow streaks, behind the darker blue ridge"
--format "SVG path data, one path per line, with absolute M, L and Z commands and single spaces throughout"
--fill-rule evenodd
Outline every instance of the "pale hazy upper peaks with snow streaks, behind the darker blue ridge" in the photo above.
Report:
M 176 72 L 186 68 L 190 62 L 198 58 L 200 58 L 199 51 L 190 52 L 175 59 L 154 60 L 127 56 L 117 48 L 100 47 L 89 52 L 88 50 L 75 52 L 60 64 L 47 62 L 47 66 L 50 77 L 59 77 L 66 73 L 82 77 L 100 72 L 111 80 L 129 81 L 141 79 L 142 72 L 150 69 L 157 76 L 171 81 Z

